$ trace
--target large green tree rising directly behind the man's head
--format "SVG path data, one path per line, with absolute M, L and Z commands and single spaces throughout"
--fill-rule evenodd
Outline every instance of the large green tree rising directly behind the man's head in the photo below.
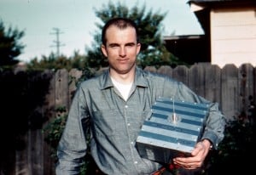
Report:
M 177 58 L 169 53 L 161 39 L 162 25 L 166 13 L 159 11 L 153 13 L 152 9 L 146 12 L 146 6 L 138 8 L 136 5 L 129 9 L 121 3 L 109 2 L 108 6 L 104 5 L 101 9 L 96 10 L 96 16 L 102 20 L 103 24 L 96 23 L 99 31 L 102 31 L 103 25 L 113 17 L 125 17 L 134 20 L 137 23 L 140 35 L 140 42 L 142 43 L 141 53 L 138 55 L 138 65 L 145 67 L 146 65 L 177 65 Z M 101 35 L 96 32 L 94 36 L 94 43 L 92 48 L 87 49 L 86 62 L 90 67 L 104 67 L 108 66 L 108 61 L 104 58 L 101 52 Z

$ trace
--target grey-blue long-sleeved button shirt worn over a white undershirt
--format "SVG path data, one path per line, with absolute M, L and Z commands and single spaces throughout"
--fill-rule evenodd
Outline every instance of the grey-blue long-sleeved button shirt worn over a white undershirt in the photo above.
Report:
M 101 76 L 80 83 L 77 88 L 58 146 L 56 174 L 79 174 L 89 148 L 84 133 L 88 129 L 90 152 L 102 172 L 141 175 L 157 170 L 160 164 L 138 154 L 136 139 L 143 121 L 151 114 L 152 104 L 160 96 L 210 104 L 202 139 L 208 138 L 214 148 L 218 147 L 224 138 L 225 119 L 217 103 L 210 103 L 169 76 L 138 67 L 131 93 L 125 101 L 113 87 L 109 72 L 105 71 Z

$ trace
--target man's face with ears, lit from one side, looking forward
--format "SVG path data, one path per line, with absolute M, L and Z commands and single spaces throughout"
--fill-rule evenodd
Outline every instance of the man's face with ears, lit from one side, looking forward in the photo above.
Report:
M 119 74 L 134 70 L 141 48 L 140 43 L 137 43 L 135 29 L 110 26 L 106 31 L 106 39 L 106 46 L 102 45 L 102 53 L 108 57 L 110 69 Z

